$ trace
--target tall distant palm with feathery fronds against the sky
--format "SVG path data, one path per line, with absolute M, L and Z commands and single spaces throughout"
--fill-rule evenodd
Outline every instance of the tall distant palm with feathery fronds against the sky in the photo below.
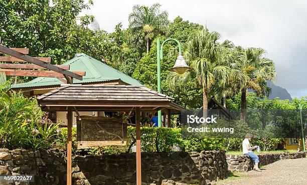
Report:
M 138 38 L 143 35 L 146 41 L 146 54 L 148 54 L 150 40 L 163 32 L 169 24 L 168 12 L 160 11 L 160 7 L 159 3 L 152 4 L 150 7 L 136 4 L 128 17 L 132 31 L 139 34 Z

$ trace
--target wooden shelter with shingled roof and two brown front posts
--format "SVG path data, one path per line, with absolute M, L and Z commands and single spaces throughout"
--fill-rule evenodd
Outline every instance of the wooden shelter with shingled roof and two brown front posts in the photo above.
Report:
M 135 111 L 136 182 L 141 184 L 140 115 L 142 111 L 169 108 L 179 111 L 172 97 L 137 85 L 65 84 L 37 97 L 45 111 L 68 112 L 67 184 L 71 184 L 72 111 Z

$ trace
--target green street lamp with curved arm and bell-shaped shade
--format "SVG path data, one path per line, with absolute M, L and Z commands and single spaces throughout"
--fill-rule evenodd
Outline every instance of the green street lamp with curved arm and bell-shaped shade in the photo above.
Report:
M 161 60 L 163 59 L 163 45 L 165 42 L 173 40 L 176 41 L 179 47 L 179 55 L 176 59 L 175 65 L 171 67 L 169 70 L 175 71 L 178 74 L 183 74 L 191 69 L 186 63 L 186 60 L 181 55 L 181 45 L 179 41 L 175 38 L 168 38 L 162 42 L 160 45 L 160 38 L 157 38 L 157 73 L 158 73 L 158 92 L 161 93 Z M 161 110 L 158 111 L 158 126 L 161 127 Z M 169 118 L 170 119 L 170 118 Z

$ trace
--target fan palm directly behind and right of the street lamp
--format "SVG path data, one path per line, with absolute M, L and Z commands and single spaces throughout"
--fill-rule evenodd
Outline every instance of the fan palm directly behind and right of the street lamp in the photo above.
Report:
M 203 116 L 207 116 L 208 95 L 212 92 L 212 87 L 219 83 L 221 79 L 228 79 L 233 76 L 233 70 L 224 62 L 222 55 L 225 49 L 232 48 L 233 44 L 229 40 L 218 42 L 220 34 L 216 31 L 209 32 L 204 29 L 196 31 L 188 42 L 184 55 L 187 61 L 191 62 L 194 69 L 185 74 L 170 73 L 168 76 L 170 89 L 174 86 L 184 86 L 190 75 L 194 72 L 198 83 L 203 88 Z

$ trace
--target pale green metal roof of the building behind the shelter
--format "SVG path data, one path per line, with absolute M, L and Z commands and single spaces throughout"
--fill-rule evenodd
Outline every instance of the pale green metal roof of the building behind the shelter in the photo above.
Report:
M 83 80 L 74 79 L 74 83 L 90 83 L 120 79 L 131 85 L 143 86 L 138 80 L 84 53 L 79 53 L 78 56 L 75 56 L 63 64 L 70 65 L 71 71 L 85 71 Z M 14 84 L 12 88 L 60 85 L 62 83 L 62 81 L 55 77 L 37 77 L 26 83 Z

